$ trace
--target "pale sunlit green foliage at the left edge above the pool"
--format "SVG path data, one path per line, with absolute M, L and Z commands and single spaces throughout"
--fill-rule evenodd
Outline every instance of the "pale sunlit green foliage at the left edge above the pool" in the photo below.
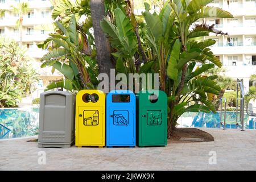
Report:
M 0 107 L 15 107 L 38 80 L 24 53 L 14 40 L 0 39 Z

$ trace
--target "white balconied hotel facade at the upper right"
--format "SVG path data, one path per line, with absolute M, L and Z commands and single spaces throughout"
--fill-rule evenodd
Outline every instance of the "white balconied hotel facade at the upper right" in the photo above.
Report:
M 210 34 L 205 39 L 216 40 L 211 49 L 220 57 L 226 76 L 243 78 L 247 92 L 250 76 L 256 74 L 256 0 L 215 0 L 209 6 L 220 7 L 234 16 L 204 19 L 209 25 L 216 24 L 217 30 L 228 33 Z

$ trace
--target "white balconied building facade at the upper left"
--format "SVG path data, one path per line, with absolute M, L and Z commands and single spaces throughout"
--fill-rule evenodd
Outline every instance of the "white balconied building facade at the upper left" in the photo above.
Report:
M 27 47 L 27 55 L 34 60 L 46 54 L 47 51 L 39 49 L 36 44 L 46 40 L 49 32 L 36 30 L 38 25 L 52 22 L 51 2 L 49 0 L 0 0 L 0 9 L 5 9 L 6 13 L 0 19 L 0 36 L 5 35 L 19 42 L 20 34 L 16 27 L 19 16 L 14 13 L 11 6 L 16 6 L 18 2 L 28 2 L 29 11 L 23 16 L 22 42 Z

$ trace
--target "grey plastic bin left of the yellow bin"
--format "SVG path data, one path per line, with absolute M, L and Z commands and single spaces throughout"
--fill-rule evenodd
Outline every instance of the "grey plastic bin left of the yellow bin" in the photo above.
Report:
M 75 141 L 75 94 L 40 94 L 38 147 L 71 147 Z

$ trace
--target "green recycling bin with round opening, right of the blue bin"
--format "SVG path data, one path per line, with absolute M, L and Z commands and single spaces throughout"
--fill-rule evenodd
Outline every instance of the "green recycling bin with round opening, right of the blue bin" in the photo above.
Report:
M 160 90 L 140 92 L 137 94 L 137 146 L 166 145 L 167 95 Z

